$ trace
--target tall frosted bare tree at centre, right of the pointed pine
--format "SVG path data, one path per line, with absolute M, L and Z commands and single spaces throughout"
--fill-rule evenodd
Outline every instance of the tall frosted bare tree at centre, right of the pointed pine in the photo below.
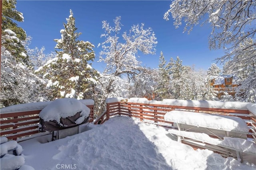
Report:
M 98 87 L 101 93 L 101 101 L 107 97 L 127 97 L 128 85 L 131 79 L 144 73 L 147 69 L 138 61 L 138 52 L 143 54 L 155 54 L 156 37 L 152 28 L 144 28 L 144 24 L 133 25 L 128 32 L 120 33 L 121 17 L 116 17 L 114 26 L 107 21 L 102 22 L 105 41 L 101 44 L 101 62 L 106 63 L 102 76 L 99 78 Z M 110 76 L 112 75 L 112 76 Z M 104 103 L 100 106 L 100 112 L 104 109 Z

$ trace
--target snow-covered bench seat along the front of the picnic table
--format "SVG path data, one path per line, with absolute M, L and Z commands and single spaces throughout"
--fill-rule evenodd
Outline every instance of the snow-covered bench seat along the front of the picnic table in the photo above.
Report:
M 169 133 L 182 136 L 181 141 L 190 142 L 201 147 L 210 148 L 213 151 L 220 152 L 228 157 L 230 154 L 237 157 L 238 160 L 243 162 L 243 153 L 256 156 L 256 144 L 252 141 L 241 139 L 224 137 L 223 140 L 217 138 L 211 138 L 205 133 L 187 132 L 176 129 L 169 129 Z

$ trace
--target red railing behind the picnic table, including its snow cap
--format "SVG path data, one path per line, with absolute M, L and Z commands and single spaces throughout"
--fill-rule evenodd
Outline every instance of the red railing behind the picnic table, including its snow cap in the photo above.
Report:
M 256 131 L 256 116 L 253 118 L 249 114 L 250 111 L 256 110 L 256 106 L 252 103 L 242 102 L 224 102 L 224 101 L 193 101 L 164 99 L 163 101 L 148 101 L 146 98 L 110 98 L 107 99 L 107 110 L 98 117 L 94 124 L 102 124 L 114 115 L 125 115 L 135 117 L 147 123 L 154 123 L 161 126 L 172 127 L 172 122 L 164 120 L 164 115 L 172 110 L 184 110 L 216 115 L 236 116 L 244 119 L 248 127 Z M 256 114 L 255 114 L 256 115 Z M 254 138 L 253 130 L 250 130 L 250 138 Z

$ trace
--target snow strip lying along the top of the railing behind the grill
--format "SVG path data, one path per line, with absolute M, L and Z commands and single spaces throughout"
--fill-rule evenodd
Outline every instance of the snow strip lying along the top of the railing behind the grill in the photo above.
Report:
M 92 99 L 84 99 L 79 101 L 84 105 L 94 105 L 94 101 Z M 44 101 L 44 102 L 24 103 L 20 105 L 8 106 L 8 107 L 1 108 L 0 114 L 24 112 L 24 111 L 39 111 L 44 109 L 50 103 L 51 101 Z

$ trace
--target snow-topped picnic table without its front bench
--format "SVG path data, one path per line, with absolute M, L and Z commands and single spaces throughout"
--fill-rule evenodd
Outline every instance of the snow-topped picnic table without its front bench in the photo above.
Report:
M 249 127 L 239 117 L 188 111 L 170 111 L 166 113 L 164 119 L 173 122 L 173 126 L 179 130 L 204 132 L 220 139 L 224 137 L 247 139 L 247 134 L 249 134 Z

